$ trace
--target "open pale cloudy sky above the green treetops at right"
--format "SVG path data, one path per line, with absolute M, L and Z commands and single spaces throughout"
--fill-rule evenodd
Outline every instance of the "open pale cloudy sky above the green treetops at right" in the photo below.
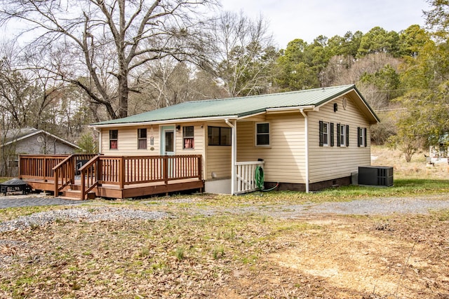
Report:
M 400 32 L 410 25 L 425 25 L 425 0 L 222 0 L 222 10 L 243 11 L 251 18 L 269 22 L 279 48 L 289 41 L 311 43 L 319 36 L 328 38 L 346 32 L 363 34 L 380 26 Z

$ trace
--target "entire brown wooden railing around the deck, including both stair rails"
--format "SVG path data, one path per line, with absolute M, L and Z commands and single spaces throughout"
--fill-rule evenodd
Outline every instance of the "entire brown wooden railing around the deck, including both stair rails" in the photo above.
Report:
M 106 156 L 20 155 L 19 176 L 23 179 L 54 181 L 55 195 L 81 176 L 81 199 L 96 186 L 117 185 L 123 189 L 138 183 L 202 179 L 201 155 Z M 79 162 L 82 167 L 77 167 Z

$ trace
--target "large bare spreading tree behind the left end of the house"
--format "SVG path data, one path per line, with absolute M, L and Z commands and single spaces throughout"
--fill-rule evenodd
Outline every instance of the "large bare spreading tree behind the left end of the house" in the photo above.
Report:
M 78 85 L 91 101 L 105 106 L 109 118 L 128 115 L 129 75 L 162 57 L 203 62 L 203 15 L 215 0 L 0 0 L 0 22 L 20 20 L 38 34 L 32 51 L 65 53 L 71 71 L 60 79 Z M 89 78 L 89 80 L 85 80 Z

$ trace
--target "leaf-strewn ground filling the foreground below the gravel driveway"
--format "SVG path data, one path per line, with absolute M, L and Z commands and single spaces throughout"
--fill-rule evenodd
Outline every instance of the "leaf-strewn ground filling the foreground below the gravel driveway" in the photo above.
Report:
M 61 219 L 0 235 L 0 297 L 438 298 L 447 215 Z

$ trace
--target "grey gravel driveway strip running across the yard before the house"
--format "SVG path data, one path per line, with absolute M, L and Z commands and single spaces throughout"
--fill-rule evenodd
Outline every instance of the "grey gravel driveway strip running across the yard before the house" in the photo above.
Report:
M 432 210 L 449 209 L 449 194 L 429 195 L 426 197 L 384 197 L 353 200 L 351 202 L 323 202 L 321 204 L 276 204 L 254 205 L 250 207 L 201 207 L 201 198 L 174 200 L 142 201 L 151 207 L 163 207 L 170 204 L 182 204 L 182 212 L 203 216 L 223 214 L 260 214 L 275 218 L 301 218 L 313 214 L 351 214 L 351 215 L 390 215 L 390 214 L 428 214 Z M 81 200 L 65 200 L 58 197 L 26 196 L 0 197 L 0 208 L 25 207 L 36 205 L 76 205 Z M 123 207 L 73 207 L 42 211 L 29 216 L 21 216 L 0 223 L 0 232 L 20 230 L 33 225 L 45 225 L 58 219 L 69 221 L 107 221 L 117 219 L 156 219 L 175 216 L 163 211 L 144 211 Z

